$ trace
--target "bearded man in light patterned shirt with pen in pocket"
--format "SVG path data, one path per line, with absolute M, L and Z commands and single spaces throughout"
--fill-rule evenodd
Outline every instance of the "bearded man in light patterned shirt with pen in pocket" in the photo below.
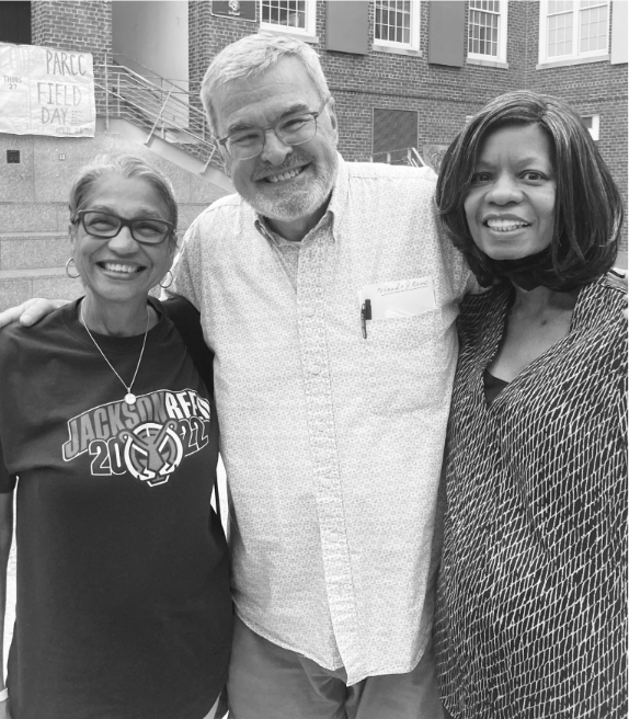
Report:
M 469 272 L 428 169 L 345 163 L 317 54 L 252 35 L 202 98 L 237 195 L 171 289 L 216 353 L 232 719 L 439 719 L 437 490 Z

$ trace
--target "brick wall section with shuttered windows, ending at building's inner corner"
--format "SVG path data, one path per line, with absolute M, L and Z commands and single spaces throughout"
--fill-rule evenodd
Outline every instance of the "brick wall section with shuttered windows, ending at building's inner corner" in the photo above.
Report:
M 513 4 L 513 3 L 512 3 Z M 521 3 L 510 10 L 510 33 L 526 23 Z M 449 68 L 427 62 L 428 3 L 422 2 L 422 57 L 370 52 L 351 55 L 325 50 L 325 2 L 317 2 L 319 44 L 313 45 L 330 90 L 336 100 L 341 124 L 340 150 L 347 159 L 371 155 L 374 107 L 414 110 L 419 113 L 419 141 L 449 142 L 472 114 L 495 94 L 522 85 L 524 62 L 519 43 L 510 44 L 510 68 L 467 66 Z M 188 5 L 191 92 L 197 94 L 201 80 L 211 59 L 227 45 L 258 32 L 258 24 L 211 15 L 204 0 Z M 369 8 L 369 26 L 374 24 L 374 5 Z M 369 38 L 371 48 L 373 37 Z M 392 148 L 393 149 L 393 148 Z

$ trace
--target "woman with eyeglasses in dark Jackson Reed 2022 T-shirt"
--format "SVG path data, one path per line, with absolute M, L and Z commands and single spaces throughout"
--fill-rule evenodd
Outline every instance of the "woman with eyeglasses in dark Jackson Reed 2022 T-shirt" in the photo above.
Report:
M 70 193 L 84 296 L 0 336 L 2 607 L 14 491 L 18 540 L 0 719 L 216 715 L 232 612 L 210 506 L 218 424 L 195 369 L 210 378 L 211 355 L 180 334 L 197 329 L 192 306 L 149 297 L 176 220 L 163 175 L 96 158 Z

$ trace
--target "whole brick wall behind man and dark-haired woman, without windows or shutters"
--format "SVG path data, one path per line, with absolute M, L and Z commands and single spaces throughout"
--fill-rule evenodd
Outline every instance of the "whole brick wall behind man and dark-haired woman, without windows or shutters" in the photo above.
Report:
M 371 155 L 374 107 L 418 112 L 419 149 L 424 144 L 447 145 L 471 115 L 503 92 L 530 89 L 563 98 L 582 114 L 601 115 L 601 152 L 627 203 L 627 65 L 608 60 L 561 68 L 536 69 L 539 53 L 539 2 L 508 4 L 508 68 L 465 65 L 454 68 L 427 61 L 430 3 L 421 3 L 421 56 L 394 55 L 373 48 L 352 55 L 325 50 L 325 2 L 317 2 L 321 64 L 336 100 L 339 148 L 348 160 Z M 467 18 L 467 3 L 466 3 Z M 260 19 L 258 19 L 260 20 Z M 374 26 L 374 4 L 369 27 Z M 258 31 L 256 23 L 210 14 L 209 2 L 190 2 L 191 91 L 198 93 L 210 60 L 226 45 Z M 466 37 L 467 46 L 467 23 Z M 391 148 L 397 149 L 397 148 Z M 624 230 L 627 251 L 627 228 Z

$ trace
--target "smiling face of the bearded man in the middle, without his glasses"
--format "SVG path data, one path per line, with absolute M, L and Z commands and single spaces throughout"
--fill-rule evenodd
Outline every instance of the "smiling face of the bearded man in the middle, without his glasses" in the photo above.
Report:
M 259 77 L 220 85 L 211 102 L 216 132 L 226 137 L 236 130 L 266 128 L 295 112 L 316 112 L 322 101 L 304 65 L 285 57 Z M 336 117 L 328 103 L 311 140 L 289 146 L 267 132 L 258 157 L 224 157 L 236 190 L 258 213 L 272 220 L 312 225 L 323 215 L 334 185 L 336 141 Z

